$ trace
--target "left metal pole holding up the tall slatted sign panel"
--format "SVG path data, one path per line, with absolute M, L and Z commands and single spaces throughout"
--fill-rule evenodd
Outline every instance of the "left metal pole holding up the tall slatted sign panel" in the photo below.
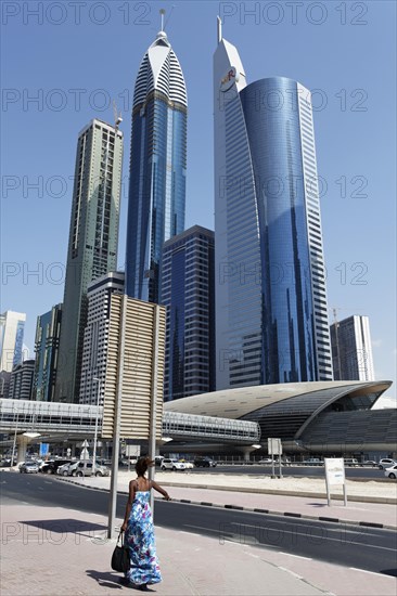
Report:
M 116 388 L 114 418 L 113 418 L 112 476 L 111 476 L 108 522 L 107 522 L 108 539 L 112 537 L 113 527 L 116 519 L 118 453 L 119 453 L 119 442 L 120 442 L 120 422 L 121 422 L 121 405 L 123 405 L 123 372 L 124 372 L 126 313 L 127 313 L 127 296 L 124 295 L 121 299 L 120 329 L 119 329 L 119 341 L 118 341 L 120 347 L 119 348 L 120 355 L 118 359 L 118 366 L 117 366 L 117 388 Z

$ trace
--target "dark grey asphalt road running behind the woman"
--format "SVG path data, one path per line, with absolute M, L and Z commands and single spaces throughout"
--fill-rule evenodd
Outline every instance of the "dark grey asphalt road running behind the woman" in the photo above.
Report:
M 2 502 L 107 515 L 108 493 L 69 484 L 39 475 L 0 475 Z M 117 517 L 123 518 L 126 495 L 117 498 Z M 46 518 L 51 515 L 49 510 Z M 284 518 L 249 511 L 219 509 L 157 501 L 155 523 L 174 530 L 210 535 L 220 541 L 254 544 L 309 557 L 397 575 L 397 535 L 389 530 L 355 528 L 341 523 Z

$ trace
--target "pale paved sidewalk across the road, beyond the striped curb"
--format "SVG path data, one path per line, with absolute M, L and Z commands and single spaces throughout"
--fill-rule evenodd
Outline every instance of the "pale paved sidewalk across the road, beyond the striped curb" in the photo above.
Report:
M 242 507 L 244 509 L 260 509 L 276 515 L 290 515 L 293 517 L 307 517 L 320 519 L 321 521 L 337 521 L 362 526 L 374 526 L 380 528 L 397 529 L 397 507 L 383 503 L 362 503 L 348 501 L 345 507 L 343 502 L 332 500 L 328 506 L 326 498 L 316 496 L 291 496 L 281 494 L 248 493 L 244 488 L 236 491 L 214 490 L 205 488 L 190 488 L 189 483 L 195 481 L 192 477 L 179 477 L 180 483 L 185 485 L 174 485 L 175 475 L 169 476 L 172 481 L 167 481 L 167 474 L 156 475 L 156 480 L 167 488 L 174 500 L 207 506 Z M 119 492 L 128 492 L 128 483 L 135 474 L 119 472 L 117 488 Z M 67 478 L 66 481 L 77 482 L 88 488 L 108 490 L 110 478 Z M 233 481 L 239 481 L 233 478 Z M 362 491 L 366 491 L 364 483 Z M 285 479 L 287 487 L 287 479 Z M 397 484 L 395 487 L 397 490 Z

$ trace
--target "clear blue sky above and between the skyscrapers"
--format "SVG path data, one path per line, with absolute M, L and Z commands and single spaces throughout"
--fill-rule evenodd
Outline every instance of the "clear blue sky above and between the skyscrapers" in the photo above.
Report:
M 27 313 L 33 355 L 36 316 L 63 299 L 77 134 L 93 117 L 113 121 L 113 98 L 124 115 L 124 268 L 133 83 L 161 8 L 188 88 L 187 228 L 214 229 L 212 64 L 220 14 L 248 82 L 280 75 L 313 91 L 329 307 L 340 320 L 369 315 L 376 378 L 395 381 L 394 1 L 4 0 L 1 311 Z

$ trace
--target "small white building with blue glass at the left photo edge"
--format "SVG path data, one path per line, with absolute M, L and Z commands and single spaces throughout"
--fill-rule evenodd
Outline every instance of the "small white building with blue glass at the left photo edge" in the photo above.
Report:
M 26 314 L 8 310 L 0 314 L 0 371 L 11 373 L 22 363 Z

